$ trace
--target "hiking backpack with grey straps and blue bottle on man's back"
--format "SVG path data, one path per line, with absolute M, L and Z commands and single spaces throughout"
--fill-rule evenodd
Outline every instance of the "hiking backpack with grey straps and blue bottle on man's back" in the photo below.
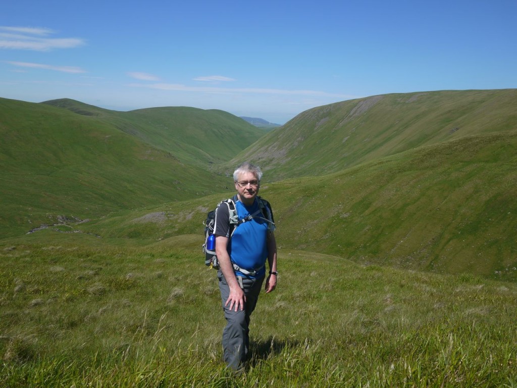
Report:
M 217 261 L 216 254 L 216 244 L 215 244 L 215 235 L 214 229 L 216 225 L 216 217 L 217 211 L 220 206 L 228 206 L 228 214 L 230 221 L 230 230 L 229 234 L 232 238 L 233 233 L 235 232 L 235 228 L 237 228 L 241 223 L 246 221 L 250 221 L 253 218 L 262 218 L 269 222 L 269 231 L 275 231 L 275 222 L 272 220 L 271 210 L 268 207 L 268 202 L 261 197 L 256 197 L 258 201 L 259 210 L 254 213 L 248 215 L 246 218 L 239 220 L 239 216 L 237 214 L 237 207 L 235 206 L 235 202 L 237 201 L 237 196 L 233 198 L 226 199 L 217 204 L 216 208 L 210 212 L 208 212 L 206 219 L 203 221 L 203 225 L 205 226 L 205 243 L 203 244 L 203 252 L 205 253 L 205 265 L 210 268 L 215 268 L 219 270 L 219 262 Z M 223 205 L 224 204 L 224 205 Z M 260 214 L 262 213 L 262 216 Z M 240 268 L 237 264 L 233 263 L 234 270 L 240 271 L 245 275 L 255 275 L 257 271 L 247 271 L 244 268 Z

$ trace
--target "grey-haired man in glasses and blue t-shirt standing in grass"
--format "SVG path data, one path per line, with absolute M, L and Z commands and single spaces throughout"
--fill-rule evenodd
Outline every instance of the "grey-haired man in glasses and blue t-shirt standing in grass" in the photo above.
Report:
M 250 316 L 266 277 L 266 259 L 266 293 L 277 285 L 275 224 L 269 202 L 257 197 L 261 178 L 260 168 L 248 162 L 235 170 L 235 207 L 239 220 L 246 221 L 235 226 L 233 233 L 227 206 L 219 206 L 216 215 L 219 289 L 226 319 L 222 345 L 224 361 L 234 370 L 241 370 L 246 361 Z

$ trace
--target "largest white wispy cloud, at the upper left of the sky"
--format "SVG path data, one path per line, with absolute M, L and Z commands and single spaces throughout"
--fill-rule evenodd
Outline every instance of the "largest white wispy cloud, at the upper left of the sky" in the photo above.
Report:
M 49 51 L 82 46 L 80 38 L 51 38 L 49 28 L 0 26 L 0 49 Z

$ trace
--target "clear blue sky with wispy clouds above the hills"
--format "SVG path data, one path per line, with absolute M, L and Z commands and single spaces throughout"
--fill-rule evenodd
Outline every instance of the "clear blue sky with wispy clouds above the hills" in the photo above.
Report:
M 284 124 L 386 93 L 517 87 L 517 0 L 10 0 L 0 97 Z

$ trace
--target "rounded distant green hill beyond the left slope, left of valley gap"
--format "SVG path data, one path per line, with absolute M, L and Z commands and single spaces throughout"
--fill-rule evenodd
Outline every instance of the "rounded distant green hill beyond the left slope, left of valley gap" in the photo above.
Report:
M 93 116 L 149 145 L 171 153 L 181 162 L 208 168 L 227 161 L 265 133 L 241 118 L 219 110 L 164 107 L 117 112 L 70 99 L 43 102 Z

